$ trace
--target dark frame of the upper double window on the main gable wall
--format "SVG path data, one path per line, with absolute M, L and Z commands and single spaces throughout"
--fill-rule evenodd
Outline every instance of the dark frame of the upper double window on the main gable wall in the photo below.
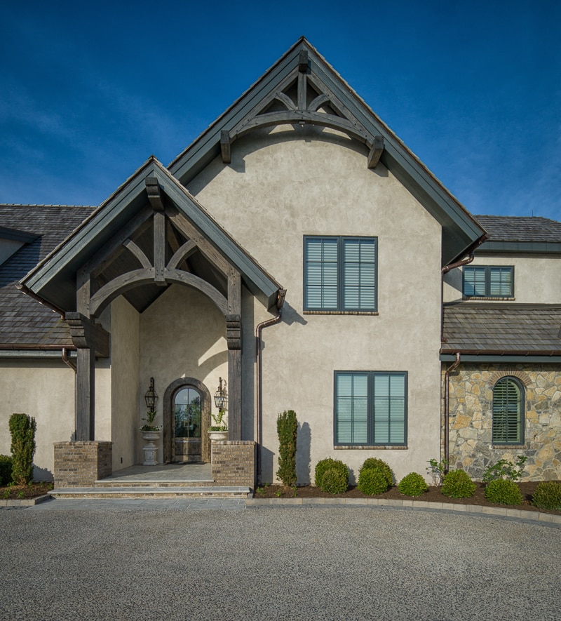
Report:
M 310 239 L 336 239 L 337 240 L 337 308 L 310 307 L 307 304 L 308 270 L 306 260 L 306 243 Z M 348 240 L 374 241 L 374 307 L 373 308 L 344 308 L 344 243 Z M 368 235 L 304 235 L 302 251 L 302 283 L 303 298 L 302 309 L 311 314 L 377 314 L 378 312 L 378 238 Z

